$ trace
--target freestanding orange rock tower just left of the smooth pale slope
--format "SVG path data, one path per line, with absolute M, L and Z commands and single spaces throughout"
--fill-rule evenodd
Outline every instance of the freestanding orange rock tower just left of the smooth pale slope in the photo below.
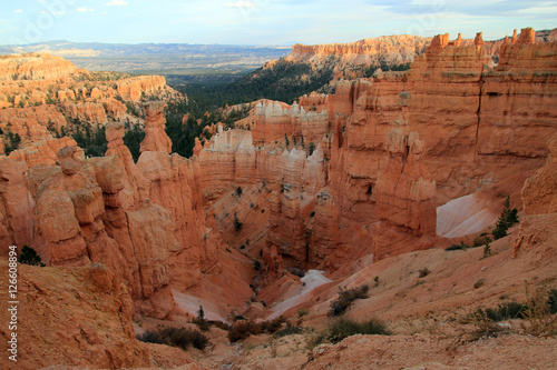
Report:
M 436 182 L 422 161 L 423 142 L 417 132 L 393 129 L 387 137 L 388 159 L 375 184 L 377 213 L 373 258 L 383 259 L 431 248 L 436 237 Z M 399 249 L 400 248 L 400 249 Z

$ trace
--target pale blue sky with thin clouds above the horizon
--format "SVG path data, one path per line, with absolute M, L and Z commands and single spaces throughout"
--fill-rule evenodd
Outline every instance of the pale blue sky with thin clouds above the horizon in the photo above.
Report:
M 0 44 L 290 46 L 479 31 L 495 40 L 557 27 L 557 1 L 536 0 L 0 0 Z

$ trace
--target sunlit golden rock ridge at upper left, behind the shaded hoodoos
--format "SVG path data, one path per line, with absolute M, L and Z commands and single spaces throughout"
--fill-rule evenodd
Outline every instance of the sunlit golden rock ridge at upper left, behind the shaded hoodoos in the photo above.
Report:
M 20 148 L 49 133 L 66 136 L 82 123 L 143 122 L 141 100 L 186 99 L 160 76 L 88 72 L 48 54 L 3 57 L 0 81 L 2 138 L 6 141 L 8 132 L 18 133 Z

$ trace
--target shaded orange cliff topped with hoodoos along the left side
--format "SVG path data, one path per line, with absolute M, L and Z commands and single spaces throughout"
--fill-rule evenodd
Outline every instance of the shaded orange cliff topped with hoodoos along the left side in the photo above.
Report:
M 164 132 L 163 108 L 146 107 L 147 127 Z M 2 248 L 31 246 L 49 266 L 104 263 L 128 286 L 136 312 L 166 318 L 177 312 L 172 289 L 219 271 L 223 243 L 203 207 L 198 163 L 144 150 L 136 164 L 124 133 L 123 123 L 108 126 L 104 158 L 85 160 L 80 149 L 65 147 L 59 166 L 28 170 L 3 159 Z M 227 302 L 235 300 L 245 297 Z

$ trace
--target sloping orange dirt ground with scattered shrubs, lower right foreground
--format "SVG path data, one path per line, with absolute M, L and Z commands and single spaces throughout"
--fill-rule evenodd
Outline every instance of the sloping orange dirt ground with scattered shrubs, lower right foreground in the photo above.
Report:
M 486 329 L 486 322 L 465 319 L 477 308 L 495 308 L 502 302 L 524 302 L 536 288 L 555 287 L 556 232 L 550 231 L 536 251 L 512 258 L 518 227 L 510 236 L 483 248 L 446 251 L 431 249 L 354 266 L 348 279 L 331 281 L 314 289 L 301 304 L 285 314 L 303 333 L 258 334 L 231 344 L 227 332 L 212 328 L 211 344 L 204 350 L 189 349 L 197 363 L 168 369 L 555 369 L 557 324 L 555 317 L 540 319 L 549 324 L 546 334 L 532 334 L 536 320 L 515 319 Z M 419 278 L 419 271 L 430 273 Z M 379 277 L 375 280 L 375 277 Z M 480 282 L 481 281 L 481 282 Z M 294 283 L 297 283 L 294 282 Z M 333 321 L 326 317 L 340 287 L 368 284 L 369 298 L 355 300 L 346 317 L 371 317 L 387 322 L 392 336 L 356 334 L 336 343 L 312 347 L 317 331 Z M 291 289 L 291 291 L 294 291 Z M 291 297 L 292 299 L 292 297 Z M 296 314 L 300 308 L 307 316 Z M 553 321 L 551 321 L 553 320 Z M 463 323 L 466 322 L 466 323 Z M 553 323 L 551 323 L 553 322 Z M 157 324 L 186 326 L 187 319 L 165 322 L 136 319 L 136 332 Z M 551 329 L 553 328 L 553 329 Z M 159 344 L 149 344 L 159 348 Z M 163 366 L 163 364 L 162 364 Z

